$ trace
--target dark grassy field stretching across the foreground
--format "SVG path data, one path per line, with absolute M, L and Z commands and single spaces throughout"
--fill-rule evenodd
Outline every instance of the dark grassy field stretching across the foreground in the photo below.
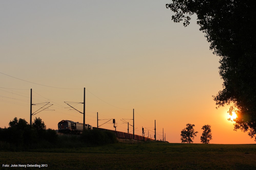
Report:
M 256 144 L 115 143 L 98 147 L 1 152 L 2 164 L 25 169 L 256 169 Z M 20 168 L 23 169 L 23 168 Z

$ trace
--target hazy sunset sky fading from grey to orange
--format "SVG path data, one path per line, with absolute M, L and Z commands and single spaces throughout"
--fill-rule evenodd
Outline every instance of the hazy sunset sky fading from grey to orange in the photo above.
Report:
M 132 119 L 135 109 L 137 135 L 143 126 L 153 137 L 156 120 L 157 140 L 164 130 L 167 141 L 180 143 L 190 123 L 199 132 L 194 143 L 207 124 L 210 143 L 255 143 L 233 131 L 229 106 L 216 109 L 220 57 L 209 50 L 196 16 L 186 28 L 171 20 L 170 2 L 0 1 L 0 127 L 14 117 L 29 122 L 30 89 L 32 103 L 53 104 L 32 119 L 52 129 L 63 119 L 82 123 L 64 101 L 83 102 L 85 87 L 85 119 L 94 127 L 98 112 L 127 132 L 121 119 Z M 83 112 L 82 104 L 75 108 Z M 114 130 L 110 122 L 101 128 Z

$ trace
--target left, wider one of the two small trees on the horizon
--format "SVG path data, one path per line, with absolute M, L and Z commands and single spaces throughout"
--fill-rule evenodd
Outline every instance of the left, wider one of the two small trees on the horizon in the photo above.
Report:
M 198 131 L 194 130 L 194 124 L 188 123 L 187 127 L 181 130 L 181 143 L 193 143 L 193 139 L 197 136 Z

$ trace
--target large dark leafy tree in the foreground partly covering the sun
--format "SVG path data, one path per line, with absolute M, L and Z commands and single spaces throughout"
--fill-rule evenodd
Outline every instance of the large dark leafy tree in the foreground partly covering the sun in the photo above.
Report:
M 219 74 L 223 90 L 213 96 L 218 107 L 230 105 L 235 111 L 234 130 L 249 131 L 256 141 L 256 1 L 251 0 L 172 0 L 166 4 L 174 22 L 189 25 L 197 15 L 200 31 L 210 49 L 220 56 Z

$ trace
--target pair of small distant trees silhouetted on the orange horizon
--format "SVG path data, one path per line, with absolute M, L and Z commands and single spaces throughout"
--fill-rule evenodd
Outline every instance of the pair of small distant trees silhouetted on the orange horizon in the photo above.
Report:
M 194 130 L 194 126 L 194 124 L 188 123 L 186 128 L 181 130 L 181 143 L 193 143 L 193 139 L 198 133 L 198 131 Z M 212 140 L 211 126 L 204 125 L 201 129 L 203 129 L 202 136 L 200 137 L 201 143 L 210 143 L 210 140 Z

